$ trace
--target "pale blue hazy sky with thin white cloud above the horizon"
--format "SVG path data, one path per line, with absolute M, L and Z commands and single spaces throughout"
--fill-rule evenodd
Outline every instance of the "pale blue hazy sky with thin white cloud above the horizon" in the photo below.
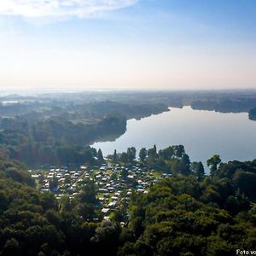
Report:
M 255 0 L 0 0 L 0 90 L 256 89 Z

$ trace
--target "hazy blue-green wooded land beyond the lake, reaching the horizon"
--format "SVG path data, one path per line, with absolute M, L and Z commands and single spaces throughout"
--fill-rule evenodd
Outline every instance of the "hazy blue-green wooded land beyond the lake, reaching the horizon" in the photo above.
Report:
M 0 104 L 0 148 L 27 166 L 93 159 L 90 144 L 122 135 L 127 119 L 162 113 L 170 106 L 246 111 L 256 119 L 255 91 L 88 92 L 0 100 L 15 102 Z

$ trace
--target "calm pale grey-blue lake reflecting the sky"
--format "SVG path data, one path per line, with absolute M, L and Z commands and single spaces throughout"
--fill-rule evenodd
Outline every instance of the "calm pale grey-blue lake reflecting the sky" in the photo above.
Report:
M 247 113 L 217 113 L 190 107 L 170 108 L 170 112 L 136 120 L 130 119 L 127 131 L 114 142 L 94 143 L 104 155 L 140 148 L 166 148 L 184 145 L 191 161 L 206 164 L 212 154 L 223 161 L 256 159 L 256 121 Z

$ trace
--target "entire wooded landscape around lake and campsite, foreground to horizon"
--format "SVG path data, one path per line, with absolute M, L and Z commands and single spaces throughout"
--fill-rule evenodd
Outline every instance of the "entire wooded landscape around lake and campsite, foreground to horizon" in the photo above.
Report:
M 113 177 L 120 182 L 129 182 L 130 166 L 168 177 L 150 183 L 146 193 L 132 190 L 128 203 L 121 201 L 127 193 L 122 191 L 108 220 L 100 210 L 94 179 L 84 177 L 77 195 L 57 199 L 53 189 L 41 193 L 26 169 L 100 166 L 106 159 L 91 143 L 119 137 L 127 119 L 170 106 L 247 111 L 254 119 L 255 99 L 252 91 L 3 96 L 0 254 L 212 256 L 255 249 L 256 160 L 223 163 L 215 154 L 207 160 L 206 175 L 202 163 L 191 163 L 182 145 L 141 148 L 138 154 L 134 147 L 115 151 L 107 163 L 126 166 L 120 177 Z

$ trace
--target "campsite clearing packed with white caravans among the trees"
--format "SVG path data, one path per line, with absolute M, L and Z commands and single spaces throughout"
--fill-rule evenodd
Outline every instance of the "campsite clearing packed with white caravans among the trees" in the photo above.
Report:
M 119 163 L 93 166 L 79 166 L 76 170 L 63 167 L 49 170 L 30 170 L 35 178 L 38 189 L 42 193 L 52 191 L 56 199 L 63 195 L 73 199 L 78 195 L 86 181 L 96 185 L 96 198 L 104 219 L 109 219 L 111 212 L 129 204 L 132 191 L 148 193 L 148 188 L 156 181 L 171 174 L 148 170 L 141 163 L 123 165 Z

